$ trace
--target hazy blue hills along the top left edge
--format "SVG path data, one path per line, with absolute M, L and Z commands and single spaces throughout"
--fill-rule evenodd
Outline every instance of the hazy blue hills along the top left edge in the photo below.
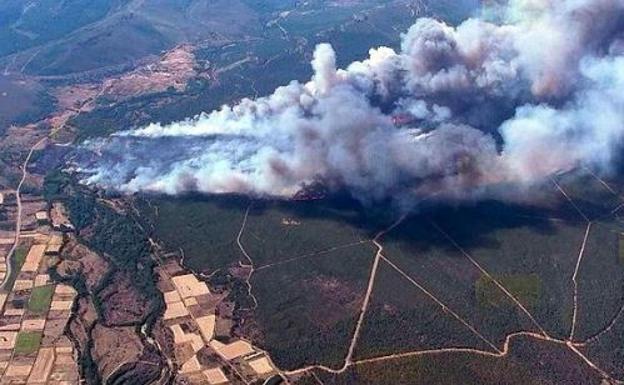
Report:
M 340 8 L 344 8 L 352 13 L 380 4 L 419 6 L 419 2 L 413 1 L 341 3 L 318 0 L 305 3 L 290 0 L 11 0 L 0 8 L 3 26 L 0 58 L 4 57 L 0 63 L 9 71 L 33 75 L 123 68 L 182 42 L 217 46 L 268 37 L 271 32 L 267 23 L 280 12 L 300 9 L 320 15 L 332 8 L 334 12 L 339 13 Z M 474 7 L 469 1 L 452 6 L 448 2 L 436 3 L 432 4 L 434 9 L 454 15 L 465 14 Z

